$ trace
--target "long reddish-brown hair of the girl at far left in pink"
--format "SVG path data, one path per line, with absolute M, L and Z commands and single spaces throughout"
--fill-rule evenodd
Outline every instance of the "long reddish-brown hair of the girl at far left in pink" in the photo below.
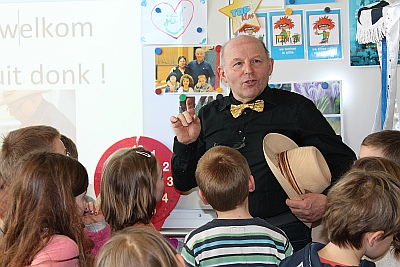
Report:
M 50 238 L 60 234 L 77 243 L 80 266 L 88 266 L 92 244 L 85 238 L 75 201 L 88 183 L 83 165 L 59 153 L 32 152 L 21 158 L 16 168 L 1 252 L 11 251 L 7 260 L 29 265 Z

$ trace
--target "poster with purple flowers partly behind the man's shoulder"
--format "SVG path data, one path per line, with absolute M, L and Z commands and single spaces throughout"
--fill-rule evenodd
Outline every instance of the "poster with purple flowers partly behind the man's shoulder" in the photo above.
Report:
M 270 84 L 271 88 L 301 94 L 310 99 L 335 130 L 343 137 L 340 95 L 342 81 L 314 81 Z

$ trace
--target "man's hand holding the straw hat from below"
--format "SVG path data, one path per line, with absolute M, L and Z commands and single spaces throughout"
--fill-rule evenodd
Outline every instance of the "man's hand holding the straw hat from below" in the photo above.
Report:
M 293 214 L 302 222 L 315 222 L 322 218 L 325 213 L 326 196 L 317 193 L 300 195 L 301 200 L 287 199 Z

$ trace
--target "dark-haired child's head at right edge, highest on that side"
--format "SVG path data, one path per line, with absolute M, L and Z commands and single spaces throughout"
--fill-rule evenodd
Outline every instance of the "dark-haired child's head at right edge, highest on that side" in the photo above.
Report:
M 365 137 L 359 157 L 368 156 L 387 158 L 400 165 L 400 131 L 384 130 Z

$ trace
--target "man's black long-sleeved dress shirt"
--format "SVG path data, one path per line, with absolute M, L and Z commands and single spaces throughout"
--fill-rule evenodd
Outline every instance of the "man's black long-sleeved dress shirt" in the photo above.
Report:
M 269 218 L 290 209 L 285 204 L 287 195 L 264 157 L 262 142 L 266 134 L 280 133 L 298 146 L 317 147 L 332 173 L 332 184 L 356 159 L 312 101 L 297 93 L 269 87 L 254 101 L 258 99 L 264 100 L 263 112 L 246 109 L 235 119 L 230 105 L 240 102 L 230 93 L 199 111 L 202 128 L 196 142 L 184 145 L 175 137 L 172 176 L 178 190 L 188 191 L 197 186 L 194 173 L 207 149 L 215 145 L 237 147 L 244 141 L 245 146 L 238 150 L 247 159 L 256 184 L 255 191 L 249 195 L 250 213 L 254 217 Z

